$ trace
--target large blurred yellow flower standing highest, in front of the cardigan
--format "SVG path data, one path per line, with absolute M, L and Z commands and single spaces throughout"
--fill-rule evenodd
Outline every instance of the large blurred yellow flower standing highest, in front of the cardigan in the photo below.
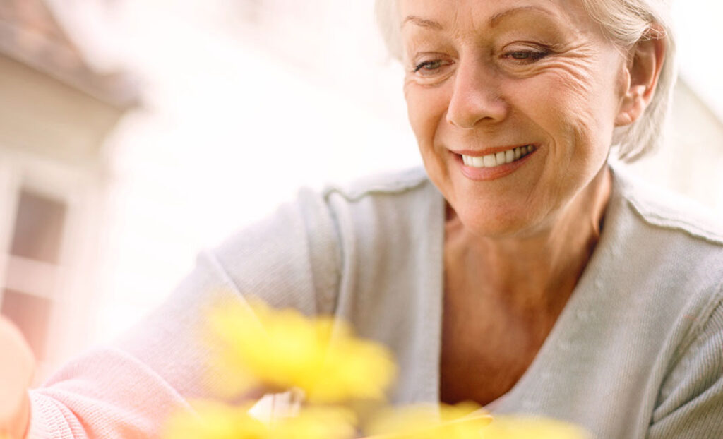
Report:
M 210 315 L 223 341 L 221 362 L 237 371 L 244 390 L 256 380 L 270 388 L 299 388 L 310 402 L 382 398 L 395 375 L 388 349 L 354 337 L 330 317 L 307 318 L 296 310 L 272 310 L 260 301 L 251 310 L 223 307 Z

